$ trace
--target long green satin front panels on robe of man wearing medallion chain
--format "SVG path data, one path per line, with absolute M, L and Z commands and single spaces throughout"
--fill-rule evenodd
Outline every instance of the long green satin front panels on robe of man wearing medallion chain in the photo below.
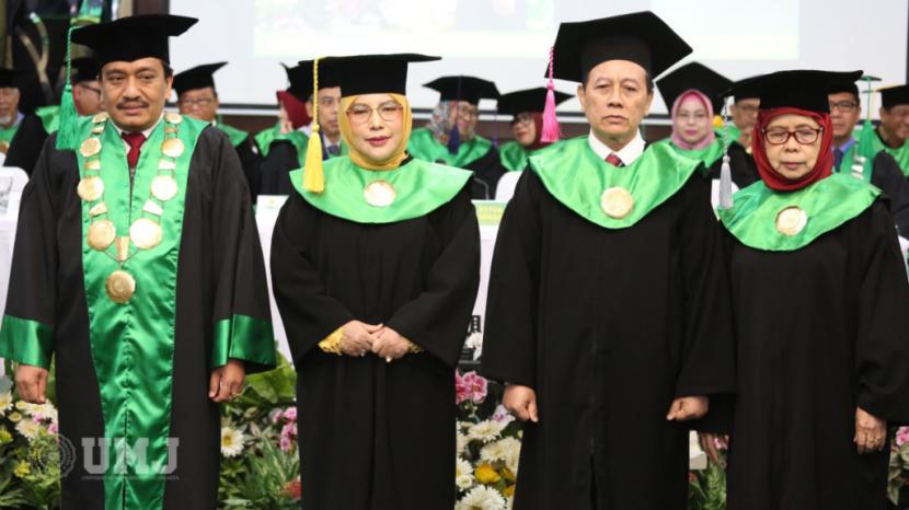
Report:
M 142 207 L 150 197 L 151 181 L 158 175 L 164 126 L 165 123 L 160 121 L 142 144 L 131 207 L 124 142 L 113 121 L 106 123 L 101 135 L 104 200 L 110 211 L 107 219 L 116 225 L 117 235 L 128 235 L 129 218 L 143 215 Z M 207 123 L 186 116 L 177 126 L 179 137 L 185 146 L 183 154 L 176 159 L 174 172 L 179 193 L 163 205 L 161 243 L 152 250 L 138 251 L 123 266 L 136 279 L 136 293 L 129 303 L 111 301 L 104 290 L 105 280 L 117 269 L 117 263 L 89 247 L 87 241 L 82 243 L 89 338 L 101 390 L 104 434 L 112 441 L 108 443 L 108 464 L 104 474 L 106 510 L 160 509 L 163 505 L 166 474 L 159 473 L 168 467 L 170 459 L 168 437 L 183 210 L 189 161 L 196 141 L 206 127 L 209 127 Z M 80 139 L 89 138 L 91 128 L 91 118 L 80 119 Z M 79 151 L 76 154 L 80 172 L 84 175 L 84 159 Z M 91 223 L 91 207 L 90 202 L 82 202 L 83 232 Z M 131 246 L 130 253 L 135 250 Z M 148 441 L 147 468 L 133 463 L 124 466 L 117 462 L 118 443 L 136 448 L 137 441 L 143 440 Z

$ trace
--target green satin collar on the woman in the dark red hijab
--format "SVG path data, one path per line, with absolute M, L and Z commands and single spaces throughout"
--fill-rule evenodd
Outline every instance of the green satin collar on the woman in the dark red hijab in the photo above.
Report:
M 790 193 L 774 192 L 758 181 L 735 194 L 730 209 L 720 209 L 720 221 L 746 246 L 791 252 L 855 218 L 878 195 L 879 189 L 848 174 L 833 174 Z M 802 232 L 784 235 L 776 230 L 776 215 L 793 206 L 808 215 L 808 222 Z

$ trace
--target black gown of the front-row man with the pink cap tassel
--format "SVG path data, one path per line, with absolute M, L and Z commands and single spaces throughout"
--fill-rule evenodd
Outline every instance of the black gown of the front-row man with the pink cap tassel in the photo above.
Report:
M 619 230 L 521 175 L 496 241 L 481 369 L 537 393 L 515 510 L 687 507 L 693 424 L 667 421 L 669 405 L 735 384 L 718 228 L 699 171 Z

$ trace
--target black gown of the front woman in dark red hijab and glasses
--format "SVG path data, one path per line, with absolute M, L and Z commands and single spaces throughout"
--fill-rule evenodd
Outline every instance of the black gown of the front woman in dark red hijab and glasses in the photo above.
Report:
M 855 408 L 909 420 L 909 283 L 883 200 L 806 247 L 727 235 L 738 338 L 729 510 L 883 510 L 889 444 L 860 455 Z

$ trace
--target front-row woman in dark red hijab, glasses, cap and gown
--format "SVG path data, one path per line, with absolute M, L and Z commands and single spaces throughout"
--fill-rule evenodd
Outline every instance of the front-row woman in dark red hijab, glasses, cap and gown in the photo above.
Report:
M 730 510 L 887 508 L 887 427 L 909 421 L 909 282 L 881 192 L 831 173 L 828 85 L 859 76 L 751 82 L 761 181 L 720 210 L 738 340 Z

